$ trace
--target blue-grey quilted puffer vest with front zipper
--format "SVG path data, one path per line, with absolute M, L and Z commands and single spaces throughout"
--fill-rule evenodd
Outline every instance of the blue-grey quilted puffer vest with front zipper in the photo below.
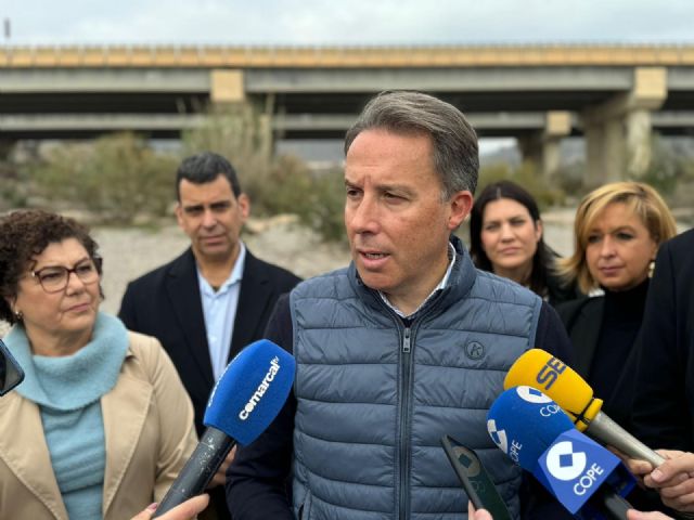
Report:
M 520 470 L 492 444 L 486 416 L 534 346 L 541 300 L 477 271 L 453 240 L 448 287 L 408 326 L 354 264 L 292 292 L 297 518 L 465 518 L 445 433 L 477 451 L 518 517 Z

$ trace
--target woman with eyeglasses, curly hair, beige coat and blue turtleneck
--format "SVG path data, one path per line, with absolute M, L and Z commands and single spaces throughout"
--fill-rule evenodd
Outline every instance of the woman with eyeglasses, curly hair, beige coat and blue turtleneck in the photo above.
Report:
M 0 518 L 130 518 L 195 447 L 192 404 L 158 341 L 99 312 L 97 248 L 59 214 L 0 218 L 3 340 L 25 370 L 0 400 Z

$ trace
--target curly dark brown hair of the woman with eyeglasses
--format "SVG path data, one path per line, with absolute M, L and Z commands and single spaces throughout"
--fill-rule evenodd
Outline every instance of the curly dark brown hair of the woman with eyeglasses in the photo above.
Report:
M 101 275 L 99 245 L 89 235 L 88 227 L 76 220 L 40 209 L 12 211 L 0 217 L 0 320 L 16 323 L 8 299 L 16 297 L 20 278 L 50 244 L 68 238 L 76 238 L 87 249 Z

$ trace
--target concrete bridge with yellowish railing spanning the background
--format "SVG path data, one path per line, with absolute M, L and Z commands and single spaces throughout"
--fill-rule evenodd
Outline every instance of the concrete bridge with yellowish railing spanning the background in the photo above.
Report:
M 694 46 L 0 49 L 0 139 L 134 130 L 178 136 L 209 104 L 250 101 L 277 139 L 338 139 L 386 89 L 459 106 L 480 136 L 514 136 L 547 177 L 568 135 L 589 184 L 639 177 L 650 135 L 694 133 Z

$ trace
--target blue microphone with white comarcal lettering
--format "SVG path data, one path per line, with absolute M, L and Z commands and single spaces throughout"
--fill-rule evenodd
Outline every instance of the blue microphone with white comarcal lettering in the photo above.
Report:
M 267 339 L 239 352 L 209 395 L 207 429 L 153 518 L 201 494 L 236 442 L 247 445 L 270 426 L 292 390 L 295 367 L 292 354 Z

